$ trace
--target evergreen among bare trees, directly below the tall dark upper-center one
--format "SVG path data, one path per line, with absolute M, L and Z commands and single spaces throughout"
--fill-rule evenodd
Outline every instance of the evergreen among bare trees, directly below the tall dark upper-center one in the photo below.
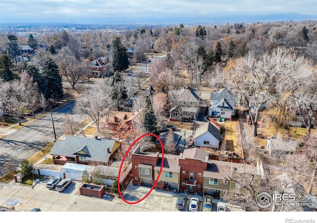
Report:
M 119 72 L 115 72 L 111 77 L 111 99 L 113 100 L 117 110 L 120 110 L 128 98 L 127 89 L 124 80 Z

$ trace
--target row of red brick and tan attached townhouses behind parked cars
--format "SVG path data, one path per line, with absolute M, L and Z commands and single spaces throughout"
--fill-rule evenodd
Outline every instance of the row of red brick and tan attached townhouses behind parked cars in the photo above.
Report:
M 163 167 L 156 185 L 157 189 L 184 190 L 221 198 L 224 193 L 239 187 L 227 180 L 228 174 L 241 172 L 251 165 L 209 160 L 209 153 L 200 148 L 186 149 L 180 155 L 159 152 L 142 152 L 137 146 L 132 153 L 132 175 L 135 185 L 152 186 Z

